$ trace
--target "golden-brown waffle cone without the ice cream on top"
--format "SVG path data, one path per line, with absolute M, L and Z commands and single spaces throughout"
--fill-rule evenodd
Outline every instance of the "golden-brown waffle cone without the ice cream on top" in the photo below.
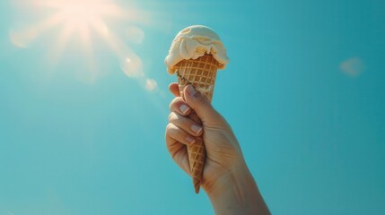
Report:
M 218 66 L 218 62 L 214 57 L 209 55 L 201 56 L 196 60 L 190 59 L 179 62 L 179 64 L 176 65 L 176 73 L 178 75 L 180 96 L 184 99 L 183 90 L 188 84 L 191 84 L 195 90 L 206 96 L 211 102 Z M 195 112 L 191 113 L 189 117 L 202 125 L 202 122 Z M 199 193 L 200 184 L 203 179 L 205 160 L 205 142 L 203 142 L 201 137 L 197 137 L 196 142 L 188 145 L 188 161 L 196 193 Z

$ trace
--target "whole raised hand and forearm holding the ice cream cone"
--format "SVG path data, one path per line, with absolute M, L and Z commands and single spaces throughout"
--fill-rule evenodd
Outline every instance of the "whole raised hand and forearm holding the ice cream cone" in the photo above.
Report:
M 190 174 L 187 145 L 202 136 L 206 146 L 206 163 L 201 186 L 213 204 L 216 214 L 269 214 L 267 205 L 249 172 L 241 147 L 232 128 L 206 97 L 191 85 L 184 89 L 185 99 L 179 96 L 179 86 L 171 83 L 169 125 L 166 144 L 172 159 Z M 201 121 L 188 117 L 192 110 Z

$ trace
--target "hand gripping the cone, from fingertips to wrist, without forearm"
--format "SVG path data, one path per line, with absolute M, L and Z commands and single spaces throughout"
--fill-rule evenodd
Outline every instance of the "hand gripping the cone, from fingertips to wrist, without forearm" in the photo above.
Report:
M 178 84 L 171 84 L 170 90 L 177 98 L 170 105 L 170 124 L 166 130 L 168 149 L 180 168 L 190 175 L 186 145 L 194 144 L 195 137 L 203 133 L 206 163 L 201 185 L 207 192 L 222 176 L 244 164 L 240 145 L 230 125 L 214 110 L 206 97 L 197 93 L 192 86 L 185 90 L 186 101 L 179 97 Z M 197 112 L 202 125 L 188 117 L 191 108 Z

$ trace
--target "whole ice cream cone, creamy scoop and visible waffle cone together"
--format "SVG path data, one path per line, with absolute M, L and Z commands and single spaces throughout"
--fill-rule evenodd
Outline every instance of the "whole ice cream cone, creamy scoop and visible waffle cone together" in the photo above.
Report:
M 168 72 L 177 73 L 179 93 L 184 98 L 183 90 L 191 84 L 208 100 L 213 99 L 216 72 L 229 63 L 226 49 L 214 30 L 194 25 L 181 30 L 172 41 L 169 55 L 164 63 Z M 193 111 L 188 117 L 202 124 Z M 205 142 L 201 137 L 194 144 L 188 144 L 188 162 L 196 193 L 199 193 L 203 180 L 206 160 Z

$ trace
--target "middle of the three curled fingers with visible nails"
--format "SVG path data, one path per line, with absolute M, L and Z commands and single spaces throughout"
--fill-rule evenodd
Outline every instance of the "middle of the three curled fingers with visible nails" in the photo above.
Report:
M 175 112 L 171 112 L 169 116 L 169 122 L 192 136 L 200 136 L 203 132 L 201 125 L 198 125 L 190 118 L 186 116 L 180 116 Z

